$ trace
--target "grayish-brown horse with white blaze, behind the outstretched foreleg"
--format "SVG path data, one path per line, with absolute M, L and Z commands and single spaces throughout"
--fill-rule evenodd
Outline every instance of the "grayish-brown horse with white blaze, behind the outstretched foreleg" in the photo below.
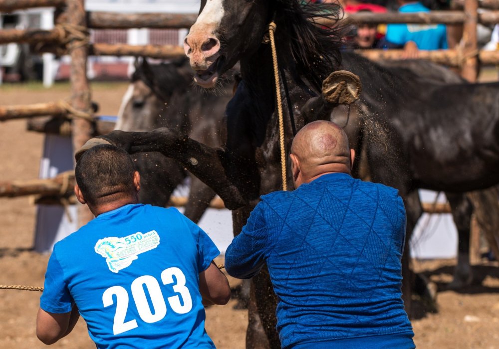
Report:
M 207 92 L 192 83 L 187 58 L 169 63 L 135 62 L 135 72 L 123 96 L 115 130 L 152 131 L 168 127 L 211 147 L 223 143 L 223 116 L 232 97 L 233 83 L 225 81 Z M 140 202 L 166 206 L 173 190 L 187 173 L 184 166 L 159 153 L 132 155 L 141 174 Z M 215 192 L 191 175 L 190 194 L 184 214 L 198 222 Z

